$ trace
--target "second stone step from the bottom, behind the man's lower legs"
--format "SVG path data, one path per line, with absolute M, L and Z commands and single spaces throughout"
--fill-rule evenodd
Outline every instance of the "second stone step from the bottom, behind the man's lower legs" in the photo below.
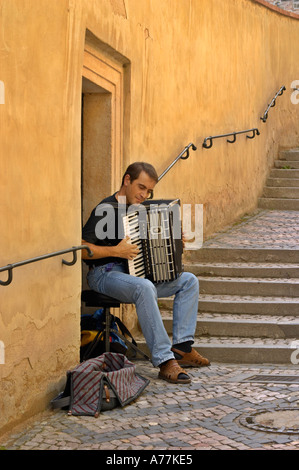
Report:
M 162 313 L 168 334 L 172 334 L 172 315 Z M 232 315 L 201 313 L 198 315 L 196 337 L 227 336 L 246 338 L 299 338 L 299 316 Z

